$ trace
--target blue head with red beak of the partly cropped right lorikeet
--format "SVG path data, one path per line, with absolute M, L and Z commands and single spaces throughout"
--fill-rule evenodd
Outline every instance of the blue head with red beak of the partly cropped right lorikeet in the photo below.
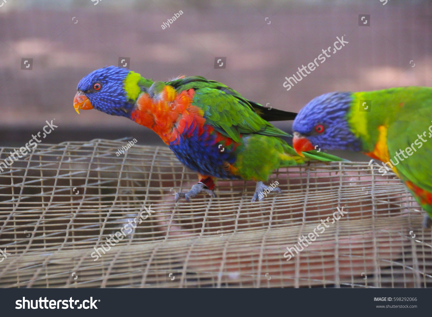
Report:
M 318 147 L 361 151 L 362 143 L 347 122 L 352 101 L 350 92 L 330 92 L 312 99 L 292 125 L 294 149 L 298 153 Z

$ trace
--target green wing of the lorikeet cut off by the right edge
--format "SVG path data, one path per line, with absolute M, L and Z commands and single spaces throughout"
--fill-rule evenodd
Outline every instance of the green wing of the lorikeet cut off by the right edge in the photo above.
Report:
M 408 158 L 399 160 L 396 170 L 403 180 L 432 193 L 432 89 L 419 91 L 416 98 L 403 105 L 396 120 L 388 127 L 387 146 L 390 159 L 396 152 L 411 148 Z M 423 142 L 421 136 L 426 142 Z M 394 158 L 396 156 L 396 159 Z

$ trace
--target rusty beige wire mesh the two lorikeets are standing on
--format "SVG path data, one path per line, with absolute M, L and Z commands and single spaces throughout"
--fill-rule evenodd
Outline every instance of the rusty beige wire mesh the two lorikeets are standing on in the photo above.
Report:
M 1 287 L 432 285 L 431 230 L 421 229 L 403 184 L 377 165 L 280 169 L 270 183 L 283 194 L 262 203 L 250 202 L 254 182 L 220 180 L 216 198 L 176 204 L 174 193 L 197 175 L 168 148 L 134 145 L 116 155 L 124 145 L 39 144 L 0 174 L 0 249 L 10 253 Z M 0 162 L 11 150 L 1 149 Z M 149 206 L 151 216 L 122 241 L 106 242 Z M 346 216 L 286 261 L 286 247 L 337 207 Z

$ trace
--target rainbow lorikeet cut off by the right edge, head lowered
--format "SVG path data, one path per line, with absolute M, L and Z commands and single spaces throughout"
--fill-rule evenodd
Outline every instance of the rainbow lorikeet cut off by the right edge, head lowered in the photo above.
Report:
M 432 88 L 331 92 L 310 101 L 294 120 L 298 153 L 316 149 L 363 152 L 392 169 L 432 216 Z M 412 157 L 411 157 L 412 156 Z M 425 217 L 423 226 L 430 225 Z

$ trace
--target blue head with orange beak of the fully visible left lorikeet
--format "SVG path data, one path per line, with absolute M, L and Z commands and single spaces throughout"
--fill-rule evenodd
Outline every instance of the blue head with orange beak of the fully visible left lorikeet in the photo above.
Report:
M 92 109 L 116 116 L 129 117 L 133 102 L 124 88 L 130 72 L 126 68 L 109 66 L 89 73 L 79 81 L 73 102 L 78 109 Z M 134 73 L 135 74 L 135 73 Z M 78 112 L 79 113 L 79 112 Z

